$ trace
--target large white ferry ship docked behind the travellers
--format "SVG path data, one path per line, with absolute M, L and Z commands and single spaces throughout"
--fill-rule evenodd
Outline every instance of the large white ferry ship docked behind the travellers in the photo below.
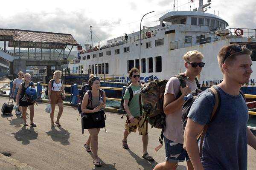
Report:
M 221 47 L 232 43 L 246 45 L 253 51 L 256 65 L 256 29 L 227 28 L 227 21 L 209 14 L 200 0 L 193 11 L 171 11 L 159 18 L 160 25 L 143 26 L 140 31 L 108 40 L 107 45 L 85 49 L 78 46 L 78 59 L 70 61 L 71 74 L 96 74 L 100 78 L 113 77 L 115 82 L 128 82 L 128 71 L 139 67 L 140 79 L 169 79 L 185 71 L 183 55 L 198 50 L 206 63 L 198 79 L 203 87 L 222 81 L 217 54 Z M 140 43 L 141 41 L 141 43 Z M 140 46 L 141 44 L 141 46 Z M 141 49 L 140 49 L 141 48 Z M 141 51 L 140 51 L 141 50 Z M 246 94 L 256 94 L 256 71 L 251 74 L 249 85 L 243 88 Z

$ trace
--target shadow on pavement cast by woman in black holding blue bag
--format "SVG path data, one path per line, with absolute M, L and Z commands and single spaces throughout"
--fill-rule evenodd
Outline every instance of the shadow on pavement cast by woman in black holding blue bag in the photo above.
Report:
M 38 137 L 38 133 L 35 132 L 34 127 L 26 128 L 28 126 L 23 126 L 21 130 L 16 133 L 12 133 L 17 141 L 22 141 L 21 144 L 29 144 L 30 140 L 35 140 Z

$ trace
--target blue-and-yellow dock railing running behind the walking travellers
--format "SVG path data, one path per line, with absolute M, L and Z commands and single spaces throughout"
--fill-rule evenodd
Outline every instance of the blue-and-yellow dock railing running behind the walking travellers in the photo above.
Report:
M 0 88 L 0 90 L 9 90 L 9 95 L 12 94 L 12 82 L 0 82 L 0 83 L 6 83 L 6 84 L 10 84 L 9 87 L 10 88 Z M 46 87 L 48 84 L 44 84 L 41 82 L 37 82 L 35 83 L 35 86 L 37 86 L 37 95 L 38 95 L 38 99 L 42 98 L 42 94 L 45 94 L 43 90 L 43 86 Z M 78 89 L 82 87 L 82 85 L 78 85 L 78 84 L 73 84 L 73 85 L 63 85 L 64 87 L 68 87 L 70 88 L 70 94 L 66 94 L 66 96 L 70 96 L 70 103 L 76 105 L 79 102 L 79 91 Z M 115 91 L 122 91 L 122 94 L 125 92 L 125 88 L 126 86 L 124 86 L 123 88 L 113 88 L 113 87 L 101 87 L 101 89 L 103 90 L 115 90 Z M 247 102 L 246 104 L 253 104 L 254 102 L 256 102 L 256 95 L 252 95 L 252 94 L 244 94 L 246 99 L 252 99 L 254 101 L 252 102 Z M 121 101 L 121 99 L 116 99 L 116 98 L 110 98 L 110 97 L 106 97 L 107 100 L 115 100 L 115 101 Z M 249 114 L 250 115 L 256 115 L 256 108 L 252 108 L 249 109 Z

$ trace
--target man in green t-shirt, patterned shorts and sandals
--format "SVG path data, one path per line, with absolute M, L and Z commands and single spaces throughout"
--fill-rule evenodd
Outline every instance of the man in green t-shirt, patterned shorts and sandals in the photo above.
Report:
M 130 93 L 128 88 L 125 90 L 125 95 L 123 97 L 124 99 L 124 109 L 127 113 L 127 121 L 125 122 L 125 132 L 124 132 L 124 138 L 122 140 L 122 147 L 125 149 L 128 149 L 127 144 L 127 136 L 131 132 L 136 132 L 137 127 L 139 130 L 139 135 L 142 135 L 142 142 L 143 142 L 143 158 L 147 159 L 148 161 L 154 161 L 154 158 L 150 156 L 147 152 L 148 147 L 148 122 L 146 121 L 142 127 L 142 125 L 145 117 L 140 116 L 140 74 L 139 70 L 137 68 L 132 68 L 129 71 L 129 78 L 131 79 L 131 84 L 129 85 L 132 89 L 133 96 L 131 101 L 130 99 Z M 128 105 L 129 103 L 129 105 Z

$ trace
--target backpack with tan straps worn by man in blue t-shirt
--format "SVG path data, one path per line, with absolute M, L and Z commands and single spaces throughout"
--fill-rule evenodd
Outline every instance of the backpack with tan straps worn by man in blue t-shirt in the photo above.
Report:
M 215 113 L 218 112 L 218 109 L 219 109 L 220 103 L 221 103 L 221 97 L 220 97 L 220 94 L 219 94 L 218 90 L 215 87 L 208 88 L 207 90 L 210 91 L 214 95 L 214 97 L 215 97 L 215 104 L 213 106 L 212 114 L 211 114 L 211 117 L 210 117 L 210 120 L 209 120 L 209 122 L 211 122 L 211 120 L 212 120 L 213 116 L 215 115 Z M 188 119 L 188 114 L 189 114 L 190 108 L 191 108 L 193 102 L 195 101 L 195 99 L 198 97 L 198 95 L 201 92 L 202 92 L 201 90 L 196 89 L 196 90 L 192 91 L 191 93 L 189 93 L 189 94 L 192 94 L 192 97 L 190 99 L 188 99 L 186 102 L 184 102 L 184 104 L 182 106 L 182 127 L 183 127 L 183 133 L 184 133 L 184 130 L 185 130 L 185 127 L 186 127 L 186 122 L 187 122 L 187 119 Z M 241 90 L 240 90 L 240 94 L 243 96 L 244 100 L 246 100 L 245 96 L 244 96 L 244 94 L 243 94 L 243 92 Z M 207 128 L 208 128 L 209 122 L 208 122 L 207 125 L 204 126 L 203 130 L 201 131 L 201 133 L 198 133 L 198 135 L 197 135 L 197 140 L 200 139 L 200 137 L 201 137 L 200 147 L 199 147 L 199 155 L 200 155 L 200 157 L 202 157 L 204 136 L 205 136 L 205 134 L 207 132 Z M 183 148 L 186 149 L 185 144 L 183 145 Z

